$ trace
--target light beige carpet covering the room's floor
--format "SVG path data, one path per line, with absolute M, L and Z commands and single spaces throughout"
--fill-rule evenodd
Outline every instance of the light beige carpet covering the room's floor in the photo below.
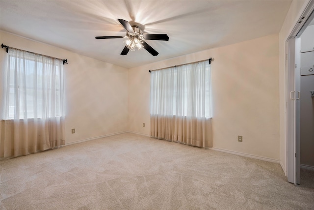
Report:
M 314 209 L 313 172 L 131 133 L 0 164 L 2 210 Z

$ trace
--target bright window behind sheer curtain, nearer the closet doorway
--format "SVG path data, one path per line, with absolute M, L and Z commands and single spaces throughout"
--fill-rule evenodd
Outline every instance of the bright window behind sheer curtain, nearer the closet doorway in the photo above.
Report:
M 151 72 L 151 114 L 211 118 L 208 60 Z

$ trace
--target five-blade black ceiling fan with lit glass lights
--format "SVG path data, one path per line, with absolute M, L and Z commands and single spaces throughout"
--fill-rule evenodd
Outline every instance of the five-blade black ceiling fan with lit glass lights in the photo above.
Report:
M 129 53 L 129 51 L 134 51 L 135 47 L 137 49 L 144 48 L 153 56 L 157 56 L 158 52 L 154 50 L 151 46 L 149 46 L 144 40 L 161 40 L 168 41 L 169 36 L 167 34 L 143 34 L 143 30 L 137 26 L 133 25 L 122 19 L 118 19 L 118 21 L 122 24 L 122 26 L 127 30 L 126 36 L 96 36 L 96 39 L 116 39 L 116 38 L 125 38 L 124 41 L 125 47 L 121 52 L 121 55 L 125 56 Z M 138 24 L 140 25 L 140 24 Z

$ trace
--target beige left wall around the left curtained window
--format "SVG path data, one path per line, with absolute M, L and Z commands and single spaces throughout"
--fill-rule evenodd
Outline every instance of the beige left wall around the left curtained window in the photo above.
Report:
M 128 129 L 128 69 L 61 48 L 0 32 L 5 45 L 68 59 L 66 87 L 66 144 Z M 1 69 L 6 53 L 0 49 Z M 76 129 L 71 134 L 71 128 Z

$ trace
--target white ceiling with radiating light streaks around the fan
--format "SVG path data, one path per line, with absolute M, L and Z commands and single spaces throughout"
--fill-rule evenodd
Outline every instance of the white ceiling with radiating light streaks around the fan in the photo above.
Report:
M 290 3 L 290 0 L 0 0 L 0 29 L 131 68 L 278 33 Z M 159 53 L 155 57 L 144 49 L 121 56 L 123 39 L 95 39 L 125 35 L 118 18 L 144 25 L 144 33 L 167 33 L 169 41 L 146 41 Z

